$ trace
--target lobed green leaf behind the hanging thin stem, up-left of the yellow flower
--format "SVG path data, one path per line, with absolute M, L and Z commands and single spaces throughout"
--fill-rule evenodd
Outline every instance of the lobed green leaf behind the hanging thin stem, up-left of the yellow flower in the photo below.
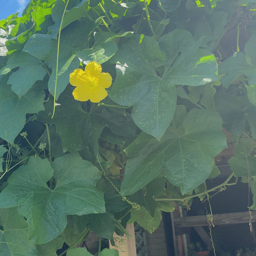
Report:
M 85 45 L 88 44 L 90 39 L 89 35 L 96 26 L 97 24 L 93 21 L 81 19 L 74 21 L 61 33 L 56 99 L 58 99 L 61 92 L 67 87 L 69 74 L 75 68 L 79 67 L 79 61 L 77 58 L 74 59 L 73 54 L 78 50 L 86 48 Z M 83 33 L 81 33 L 81 30 Z M 34 55 L 40 60 L 46 61 L 48 67 L 52 68 L 48 88 L 50 93 L 54 95 L 57 40 L 54 40 L 49 34 L 34 34 L 27 40 L 23 51 Z

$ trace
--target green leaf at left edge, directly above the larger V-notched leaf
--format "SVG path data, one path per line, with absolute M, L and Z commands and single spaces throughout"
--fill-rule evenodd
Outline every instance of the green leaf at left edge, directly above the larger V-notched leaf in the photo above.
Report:
M 14 53 L 7 61 L 7 65 L 0 70 L 0 74 L 7 74 L 13 68 L 19 69 L 10 75 L 8 84 L 12 85 L 12 91 L 19 96 L 19 99 L 38 80 L 43 80 L 46 71 L 42 67 L 42 62 L 27 53 Z

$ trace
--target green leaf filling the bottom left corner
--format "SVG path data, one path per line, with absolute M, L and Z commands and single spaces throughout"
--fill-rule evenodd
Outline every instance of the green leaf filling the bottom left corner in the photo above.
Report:
M 34 241 L 27 240 L 28 226 L 17 208 L 0 209 L 0 252 L 4 256 L 37 255 Z

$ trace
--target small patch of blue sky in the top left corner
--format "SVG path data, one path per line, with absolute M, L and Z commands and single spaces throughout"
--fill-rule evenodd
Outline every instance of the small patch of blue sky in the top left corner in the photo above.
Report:
M 0 20 L 16 12 L 21 14 L 28 2 L 29 0 L 0 0 Z

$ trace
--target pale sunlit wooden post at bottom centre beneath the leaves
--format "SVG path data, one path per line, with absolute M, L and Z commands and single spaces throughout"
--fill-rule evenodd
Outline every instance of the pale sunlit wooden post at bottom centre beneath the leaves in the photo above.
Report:
M 131 237 L 128 238 L 126 235 L 117 236 L 114 233 L 113 237 L 114 237 L 116 246 L 112 246 L 111 243 L 109 242 L 109 249 L 118 250 L 119 256 L 137 256 L 136 245 L 135 245 L 134 224 L 133 223 L 127 224 L 126 230 L 131 235 Z

